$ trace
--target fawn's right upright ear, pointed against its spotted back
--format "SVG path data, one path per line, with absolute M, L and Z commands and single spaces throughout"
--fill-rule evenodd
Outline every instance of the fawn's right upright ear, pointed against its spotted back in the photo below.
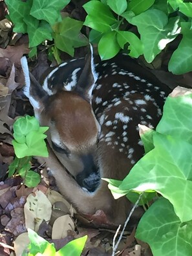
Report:
M 76 84 L 74 92 L 77 92 L 82 98 L 91 103 L 92 90 L 97 79 L 98 74 L 95 70 L 93 49 L 92 45 L 90 44 L 90 53 L 87 54 L 85 58 L 85 67 L 81 72 L 81 76 L 78 80 L 78 83 Z

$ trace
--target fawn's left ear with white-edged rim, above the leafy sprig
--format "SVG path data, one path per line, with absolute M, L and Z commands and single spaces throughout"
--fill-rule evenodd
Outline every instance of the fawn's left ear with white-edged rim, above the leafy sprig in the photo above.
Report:
M 25 87 L 23 92 L 27 96 L 34 110 L 43 108 L 43 100 L 47 96 L 47 92 L 43 90 L 41 85 L 37 82 L 36 78 L 30 74 L 28 70 L 27 58 L 24 56 L 21 58 L 21 67 L 25 77 Z

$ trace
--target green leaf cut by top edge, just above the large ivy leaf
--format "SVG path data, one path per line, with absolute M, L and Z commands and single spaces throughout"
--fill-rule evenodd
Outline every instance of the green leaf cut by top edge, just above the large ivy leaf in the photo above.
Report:
M 145 10 L 149 9 L 154 3 L 155 0 L 131 0 L 128 2 L 127 10 L 134 12 L 135 15 L 138 15 L 145 12 Z

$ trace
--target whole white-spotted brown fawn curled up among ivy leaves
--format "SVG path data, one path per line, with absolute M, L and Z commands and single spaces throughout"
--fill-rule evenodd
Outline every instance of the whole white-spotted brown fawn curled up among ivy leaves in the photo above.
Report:
M 42 86 L 25 57 L 21 65 L 25 95 L 39 123 L 50 127 L 44 160 L 59 190 L 78 211 L 102 209 L 123 223 L 131 202 L 114 200 L 101 177 L 122 180 L 144 155 L 138 124 L 157 125 L 170 90 L 128 56 L 96 61 L 92 47 L 87 58 L 54 67 Z

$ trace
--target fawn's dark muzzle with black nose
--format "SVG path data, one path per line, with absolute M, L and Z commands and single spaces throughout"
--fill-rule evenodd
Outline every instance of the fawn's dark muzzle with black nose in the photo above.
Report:
M 92 155 L 81 156 L 84 169 L 76 176 L 76 182 L 90 192 L 94 192 L 100 185 L 100 171 L 94 163 Z

